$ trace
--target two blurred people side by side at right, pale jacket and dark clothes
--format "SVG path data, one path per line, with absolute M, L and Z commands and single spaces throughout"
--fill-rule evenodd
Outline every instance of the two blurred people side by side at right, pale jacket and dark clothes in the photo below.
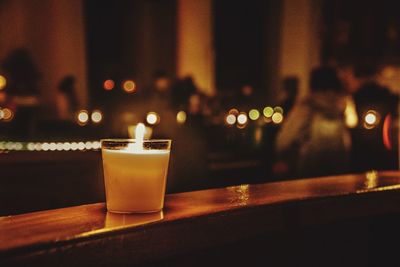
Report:
M 396 169 L 398 96 L 377 83 L 377 74 L 367 64 L 314 69 L 309 95 L 278 133 L 276 171 L 315 177 Z

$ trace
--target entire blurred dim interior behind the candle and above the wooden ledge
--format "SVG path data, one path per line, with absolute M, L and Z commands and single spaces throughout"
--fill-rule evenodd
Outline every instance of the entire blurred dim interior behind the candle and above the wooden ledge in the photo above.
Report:
M 398 169 L 399 8 L 0 0 L 0 213 L 104 201 L 99 140 L 139 122 L 169 193 Z

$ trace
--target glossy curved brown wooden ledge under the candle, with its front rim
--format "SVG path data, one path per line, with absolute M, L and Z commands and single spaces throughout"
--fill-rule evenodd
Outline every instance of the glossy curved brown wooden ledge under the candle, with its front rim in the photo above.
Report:
M 400 211 L 400 172 L 240 185 L 166 196 L 163 213 L 103 203 L 0 217 L 0 265 L 143 264 L 315 224 Z

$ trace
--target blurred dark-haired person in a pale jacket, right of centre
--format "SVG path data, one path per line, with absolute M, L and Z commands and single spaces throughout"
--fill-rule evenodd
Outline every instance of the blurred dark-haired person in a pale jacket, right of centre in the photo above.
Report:
M 293 107 L 278 132 L 281 160 L 274 169 L 300 177 L 347 172 L 350 136 L 342 85 L 331 67 L 314 69 L 310 81 L 310 95 Z

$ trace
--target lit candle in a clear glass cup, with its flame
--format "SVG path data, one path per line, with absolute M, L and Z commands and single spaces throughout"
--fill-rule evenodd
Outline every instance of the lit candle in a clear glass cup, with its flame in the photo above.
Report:
M 102 140 L 107 209 L 111 212 L 155 212 L 164 206 L 170 140 Z

